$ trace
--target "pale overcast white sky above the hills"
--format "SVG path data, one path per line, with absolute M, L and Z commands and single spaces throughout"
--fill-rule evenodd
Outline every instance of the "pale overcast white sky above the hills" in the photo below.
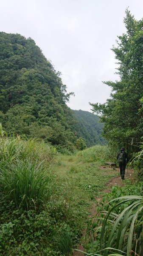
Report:
M 102 81 L 119 80 L 111 48 L 126 32 L 128 8 L 143 17 L 143 0 L 0 0 L 0 31 L 34 39 L 56 71 L 62 73 L 67 105 L 91 112 L 111 89 Z

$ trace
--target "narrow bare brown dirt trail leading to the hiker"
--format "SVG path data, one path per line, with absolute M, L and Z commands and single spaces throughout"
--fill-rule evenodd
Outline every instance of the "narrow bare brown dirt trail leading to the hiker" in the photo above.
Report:
M 107 169 L 111 170 L 110 168 L 107 168 L 105 166 L 101 166 L 101 169 L 102 170 L 106 169 L 106 171 L 107 171 Z M 118 171 L 118 168 L 116 168 L 116 171 Z M 106 172 L 106 174 L 107 174 L 107 172 Z M 130 180 L 133 179 L 133 174 L 134 174 L 133 170 L 126 170 L 125 179 L 130 179 Z M 103 193 L 110 192 L 111 186 L 125 186 L 125 183 L 121 180 L 121 177 L 118 176 L 118 177 L 112 178 L 112 180 L 110 180 L 106 184 L 106 186 L 107 186 L 107 188 L 102 191 Z M 101 198 L 96 198 L 96 200 L 100 201 Z M 91 215 L 89 215 L 89 216 L 95 215 L 96 204 L 93 204 L 92 208 L 90 209 L 90 213 L 91 213 Z M 83 230 L 83 236 L 85 235 L 85 233 L 86 233 L 86 228 L 85 228 L 85 230 Z M 82 245 L 79 245 L 77 249 L 84 251 L 84 247 Z M 73 256 L 85 256 L 85 254 L 74 250 Z

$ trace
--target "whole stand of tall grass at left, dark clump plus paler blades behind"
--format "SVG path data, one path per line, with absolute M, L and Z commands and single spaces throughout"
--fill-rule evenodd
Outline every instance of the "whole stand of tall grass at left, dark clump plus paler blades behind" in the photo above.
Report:
M 53 188 L 49 164 L 55 149 L 34 139 L 0 138 L 0 200 L 17 208 L 36 209 Z

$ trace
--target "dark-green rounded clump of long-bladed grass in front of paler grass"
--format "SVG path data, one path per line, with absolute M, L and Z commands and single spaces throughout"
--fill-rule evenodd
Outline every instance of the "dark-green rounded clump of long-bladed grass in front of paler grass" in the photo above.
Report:
M 50 199 L 52 182 L 50 173 L 41 163 L 24 162 L 0 168 L 1 200 L 13 201 L 17 209 L 39 208 Z

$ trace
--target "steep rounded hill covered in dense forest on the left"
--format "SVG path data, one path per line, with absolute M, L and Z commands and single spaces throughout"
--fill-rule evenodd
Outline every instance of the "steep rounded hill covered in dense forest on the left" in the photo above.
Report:
M 77 145 L 80 149 L 79 144 L 86 147 L 66 105 L 73 93 L 67 94 L 60 74 L 34 40 L 0 32 L 0 122 L 8 134 L 36 137 L 71 151 Z

